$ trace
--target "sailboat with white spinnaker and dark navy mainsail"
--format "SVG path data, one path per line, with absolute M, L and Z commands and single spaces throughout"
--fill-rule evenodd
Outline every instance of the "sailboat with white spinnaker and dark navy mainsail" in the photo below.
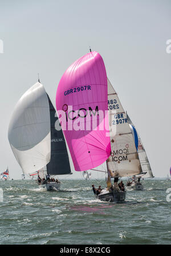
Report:
M 19 99 L 9 124 L 9 142 L 24 174 L 71 174 L 70 162 L 62 130 L 55 130 L 59 122 L 56 111 L 39 82 Z M 59 189 L 59 182 L 42 178 L 39 185 L 47 190 Z

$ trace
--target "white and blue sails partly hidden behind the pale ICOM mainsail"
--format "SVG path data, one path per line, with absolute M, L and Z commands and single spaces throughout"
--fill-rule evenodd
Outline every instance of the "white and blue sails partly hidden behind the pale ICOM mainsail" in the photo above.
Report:
M 152 169 L 150 167 L 143 143 L 141 141 L 140 135 L 137 133 L 135 126 L 133 125 L 128 114 L 127 114 L 127 120 L 128 120 L 129 126 L 131 127 L 133 138 L 135 138 L 135 143 L 137 145 L 137 152 L 139 154 L 141 168 L 143 170 L 143 173 L 146 173 L 145 175 L 143 175 L 143 178 L 152 178 L 154 176 L 153 176 Z

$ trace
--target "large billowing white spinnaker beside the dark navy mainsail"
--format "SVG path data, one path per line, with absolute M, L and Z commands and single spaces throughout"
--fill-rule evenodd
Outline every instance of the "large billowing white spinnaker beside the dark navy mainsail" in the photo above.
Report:
M 50 162 L 50 109 L 41 83 L 35 83 L 19 99 L 11 117 L 8 136 L 23 173 L 33 173 Z

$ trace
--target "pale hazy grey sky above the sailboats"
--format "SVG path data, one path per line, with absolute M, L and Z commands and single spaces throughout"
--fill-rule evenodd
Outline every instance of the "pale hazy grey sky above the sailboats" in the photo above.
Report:
M 39 73 L 55 106 L 64 71 L 91 46 L 101 54 L 108 78 L 140 134 L 154 176 L 169 174 L 170 13 L 170 0 L 0 0 L 0 171 L 8 165 L 10 177 L 21 178 L 7 138 L 19 98 Z M 74 171 L 72 177 L 80 174 Z

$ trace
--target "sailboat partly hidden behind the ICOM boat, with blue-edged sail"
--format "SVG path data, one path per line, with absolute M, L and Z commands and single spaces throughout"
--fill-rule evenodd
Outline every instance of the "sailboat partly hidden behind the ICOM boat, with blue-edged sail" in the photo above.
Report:
M 146 155 L 146 151 L 145 151 L 143 143 L 141 141 L 140 135 L 137 133 L 135 125 L 133 125 L 133 122 L 131 121 L 131 118 L 128 116 L 128 114 L 127 114 L 127 120 L 128 120 L 129 126 L 130 126 L 131 131 L 132 131 L 132 136 L 134 138 L 137 153 L 139 155 L 141 168 L 143 170 L 142 174 L 134 175 L 133 178 L 132 178 L 132 181 L 131 181 L 131 178 L 129 178 L 127 189 L 128 190 L 129 189 L 143 190 L 144 186 L 140 182 L 140 179 L 142 177 L 143 177 L 143 179 L 144 178 L 153 178 L 154 176 L 153 176 L 153 173 L 152 173 L 152 169 L 150 167 L 148 157 Z

